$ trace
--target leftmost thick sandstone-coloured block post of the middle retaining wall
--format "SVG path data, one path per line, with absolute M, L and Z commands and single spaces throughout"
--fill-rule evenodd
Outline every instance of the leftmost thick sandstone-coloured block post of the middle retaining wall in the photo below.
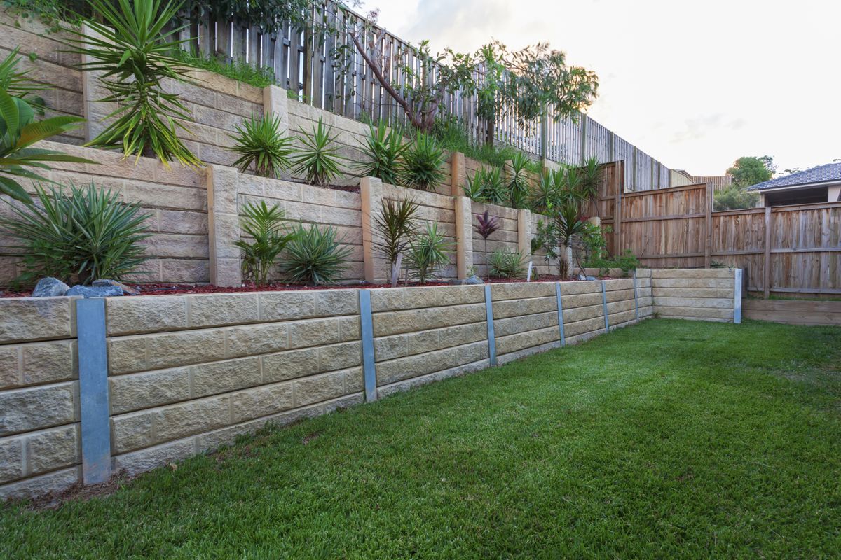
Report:
M 210 283 L 242 285 L 240 249 L 239 174 L 232 167 L 207 167 Z

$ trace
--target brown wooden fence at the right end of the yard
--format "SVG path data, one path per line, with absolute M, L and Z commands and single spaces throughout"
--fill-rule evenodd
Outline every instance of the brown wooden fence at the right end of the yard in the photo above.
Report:
M 712 212 L 709 184 L 614 195 L 612 208 L 603 196 L 615 254 L 630 249 L 652 268 L 742 268 L 765 297 L 841 294 L 841 202 Z

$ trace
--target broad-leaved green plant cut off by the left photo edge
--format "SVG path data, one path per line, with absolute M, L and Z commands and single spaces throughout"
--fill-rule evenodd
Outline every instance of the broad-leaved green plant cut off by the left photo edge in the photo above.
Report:
M 32 198 L 15 179 L 24 177 L 47 181 L 35 170 L 50 170 L 50 161 L 70 161 L 94 164 L 95 161 L 63 154 L 53 149 L 31 148 L 39 140 L 76 128 L 85 119 L 79 117 L 51 117 L 34 123 L 34 111 L 29 103 L 12 97 L 0 89 L 0 192 L 13 199 L 32 204 Z

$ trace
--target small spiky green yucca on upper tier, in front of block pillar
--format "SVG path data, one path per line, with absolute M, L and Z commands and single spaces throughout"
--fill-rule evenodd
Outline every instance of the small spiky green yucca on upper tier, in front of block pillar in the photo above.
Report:
M 233 165 L 241 171 L 253 166 L 257 175 L 277 179 L 281 171 L 292 166 L 294 140 L 281 135 L 278 115 L 252 115 L 230 138 L 235 142 L 231 151 L 240 155 Z

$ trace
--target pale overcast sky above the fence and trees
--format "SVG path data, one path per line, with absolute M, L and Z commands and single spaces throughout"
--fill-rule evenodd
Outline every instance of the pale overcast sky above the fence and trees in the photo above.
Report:
M 838 0 L 367 0 L 432 50 L 548 41 L 596 71 L 589 114 L 669 167 L 720 175 L 841 158 Z

